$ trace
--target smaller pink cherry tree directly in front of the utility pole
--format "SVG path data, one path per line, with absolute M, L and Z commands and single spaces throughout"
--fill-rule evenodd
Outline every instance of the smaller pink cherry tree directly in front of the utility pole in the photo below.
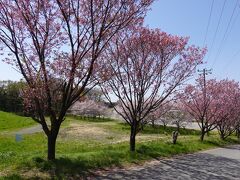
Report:
M 204 84 L 203 77 L 199 77 L 196 85 L 188 85 L 179 94 L 185 111 L 196 120 L 201 129 L 201 141 L 204 140 L 206 133 L 217 127 L 215 113 L 218 109 L 214 101 L 219 90 L 217 81 L 212 79 L 205 82 Z

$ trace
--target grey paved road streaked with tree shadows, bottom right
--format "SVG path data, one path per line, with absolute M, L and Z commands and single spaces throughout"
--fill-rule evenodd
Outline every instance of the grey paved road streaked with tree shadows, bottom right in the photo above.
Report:
M 93 179 L 240 180 L 240 145 L 96 172 Z

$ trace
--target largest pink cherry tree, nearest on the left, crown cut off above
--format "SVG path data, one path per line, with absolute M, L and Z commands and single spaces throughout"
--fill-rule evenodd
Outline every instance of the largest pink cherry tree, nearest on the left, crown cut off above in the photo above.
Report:
M 106 44 L 141 24 L 152 2 L 0 0 L 0 49 L 28 84 L 25 102 L 48 137 L 49 160 L 68 108 L 96 84 L 92 75 Z

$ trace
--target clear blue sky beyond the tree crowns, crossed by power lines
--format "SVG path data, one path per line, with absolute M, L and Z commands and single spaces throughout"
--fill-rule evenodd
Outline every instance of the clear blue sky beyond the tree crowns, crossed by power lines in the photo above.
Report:
M 191 44 L 207 46 L 207 63 L 199 69 L 212 68 L 212 75 L 208 78 L 228 77 L 240 81 L 240 0 L 214 0 L 213 6 L 212 2 L 158 0 L 147 14 L 145 24 L 174 35 L 189 36 Z M 0 80 L 20 78 L 21 75 L 11 66 L 0 62 Z

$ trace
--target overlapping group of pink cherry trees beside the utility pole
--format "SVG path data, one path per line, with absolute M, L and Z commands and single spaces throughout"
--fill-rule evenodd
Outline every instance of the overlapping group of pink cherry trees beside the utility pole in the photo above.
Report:
M 201 129 L 201 140 L 206 133 L 217 128 L 222 139 L 234 131 L 239 137 L 240 86 L 238 82 L 197 79 L 196 85 L 188 85 L 179 99 Z

